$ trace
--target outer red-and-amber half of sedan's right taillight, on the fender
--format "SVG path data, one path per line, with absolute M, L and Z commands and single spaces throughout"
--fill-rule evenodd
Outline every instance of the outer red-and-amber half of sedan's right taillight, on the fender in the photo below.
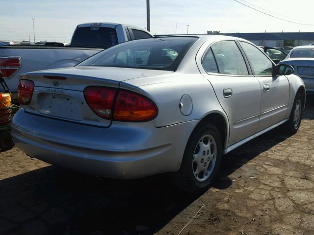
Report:
M 120 90 L 114 108 L 114 120 L 149 121 L 156 118 L 158 110 L 150 99 L 143 95 Z

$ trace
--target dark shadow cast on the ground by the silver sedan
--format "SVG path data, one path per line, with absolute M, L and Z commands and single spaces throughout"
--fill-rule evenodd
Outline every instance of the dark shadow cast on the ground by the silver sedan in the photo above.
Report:
M 229 188 L 230 174 L 288 137 L 276 128 L 228 153 L 212 187 Z M 0 222 L 16 234 L 154 235 L 200 196 L 166 174 L 121 181 L 47 166 L 0 181 Z

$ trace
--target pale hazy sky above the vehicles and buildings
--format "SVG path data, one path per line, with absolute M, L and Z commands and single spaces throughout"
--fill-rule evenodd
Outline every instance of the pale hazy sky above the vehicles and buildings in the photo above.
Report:
M 267 14 L 300 24 L 288 23 Z M 150 0 L 151 33 L 314 32 L 314 0 Z M 263 8 L 263 9 L 262 9 Z M 78 24 L 146 27 L 146 0 L 0 0 L 0 40 L 70 42 Z M 178 22 L 178 23 L 177 23 Z M 302 25 L 312 24 L 312 25 Z

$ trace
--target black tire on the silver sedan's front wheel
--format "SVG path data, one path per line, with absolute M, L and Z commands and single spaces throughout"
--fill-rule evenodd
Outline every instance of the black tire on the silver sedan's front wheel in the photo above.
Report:
M 303 96 L 300 92 L 295 95 L 289 120 L 284 123 L 284 130 L 289 135 L 294 135 L 300 127 L 304 107 L 303 100 L 304 100 Z M 296 111 L 299 106 L 300 106 L 299 111 Z M 299 113 L 298 121 L 295 121 L 295 113 Z

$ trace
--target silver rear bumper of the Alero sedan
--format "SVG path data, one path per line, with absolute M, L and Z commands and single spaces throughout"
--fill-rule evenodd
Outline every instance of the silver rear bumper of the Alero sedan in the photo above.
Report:
M 16 146 L 44 162 L 92 175 L 133 179 L 180 169 L 197 120 L 162 128 L 153 122 L 81 125 L 18 111 L 12 122 Z

